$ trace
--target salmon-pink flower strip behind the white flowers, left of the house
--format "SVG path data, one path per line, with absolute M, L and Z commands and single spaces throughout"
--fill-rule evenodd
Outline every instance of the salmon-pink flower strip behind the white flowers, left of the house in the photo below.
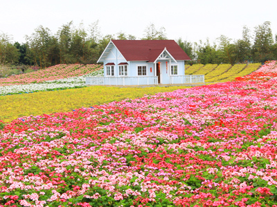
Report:
M 80 65 L 80 64 L 61 64 L 46 68 L 44 70 L 37 70 L 36 72 L 29 72 L 21 75 L 14 75 L 11 77 L 1 78 L 0 86 L 12 86 L 28 83 L 42 83 L 44 81 L 53 81 L 57 79 L 65 79 L 69 77 L 78 77 L 89 74 L 93 71 L 102 69 L 101 65 Z

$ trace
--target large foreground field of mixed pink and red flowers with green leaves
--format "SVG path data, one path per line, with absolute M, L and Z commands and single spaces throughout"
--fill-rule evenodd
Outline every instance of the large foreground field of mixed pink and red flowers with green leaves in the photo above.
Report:
M 277 74 L 0 123 L 0 206 L 276 206 Z

